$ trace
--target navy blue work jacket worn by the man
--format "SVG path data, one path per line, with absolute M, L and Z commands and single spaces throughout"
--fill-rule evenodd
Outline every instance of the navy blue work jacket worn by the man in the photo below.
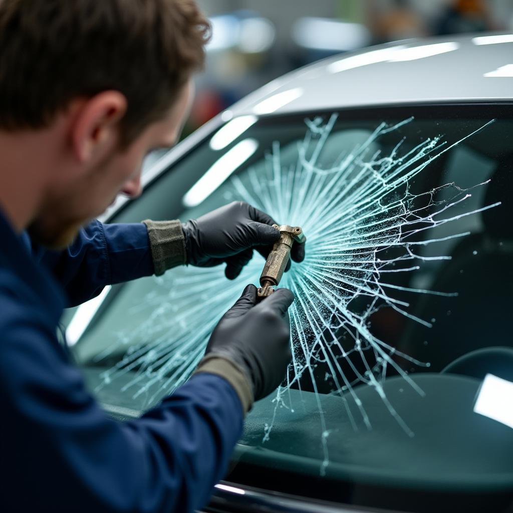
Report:
M 109 419 L 56 338 L 65 306 L 153 272 L 143 224 L 93 222 L 30 249 L 0 212 L 0 510 L 192 511 L 241 435 L 234 389 L 196 374 L 141 419 Z

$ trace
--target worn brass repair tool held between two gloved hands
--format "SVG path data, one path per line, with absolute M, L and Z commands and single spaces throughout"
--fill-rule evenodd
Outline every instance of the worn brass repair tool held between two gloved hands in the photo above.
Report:
M 280 240 L 274 243 L 272 251 L 267 257 L 264 270 L 260 277 L 260 285 L 258 289 L 258 297 L 260 299 L 267 298 L 274 292 L 272 287 L 277 286 L 282 279 L 283 272 L 290 258 L 290 249 L 295 242 L 304 243 L 306 241 L 305 234 L 299 226 L 288 225 L 272 225 L 280 230 Z

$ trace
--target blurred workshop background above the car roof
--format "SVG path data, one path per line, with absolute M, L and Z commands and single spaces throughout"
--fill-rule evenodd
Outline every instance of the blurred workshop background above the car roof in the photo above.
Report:
M 198 0 L 213 27 L 184 136 L 287 71 L 411 37 L 513 31 L 513 0 Z

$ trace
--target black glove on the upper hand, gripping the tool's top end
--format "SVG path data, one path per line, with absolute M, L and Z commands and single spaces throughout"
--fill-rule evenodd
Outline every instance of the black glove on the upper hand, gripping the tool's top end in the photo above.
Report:
M 287 220 L 284 220 L 287 222 Z M 241 273 L 251 260 L 253 248 L 267 258 L 280 232 L 266 213 L 242 201 L 233 202 L 182 224 L 187 264 L 212 267 L 226 262 L 230 280 Z M 295 262 L 305 258 L 305 245 L 294 242 L 290 257 Z M 290 268 L 290 260 L 287 269 Z

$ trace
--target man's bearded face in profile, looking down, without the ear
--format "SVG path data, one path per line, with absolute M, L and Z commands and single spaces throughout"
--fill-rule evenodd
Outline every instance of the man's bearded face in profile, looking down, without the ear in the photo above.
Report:
M 150 124 L 128 147 L 111 151 L 94 168 L 72 181 L 63 180 L 49 191 L 40 214 L 29 227 L 31 236 L 47 247 L 64 248 L 81 226 L 105 211 L 117 194 L 139 196 L 144 157 L 179 139 L 192 96 L 189 82 L 164 119 Z

